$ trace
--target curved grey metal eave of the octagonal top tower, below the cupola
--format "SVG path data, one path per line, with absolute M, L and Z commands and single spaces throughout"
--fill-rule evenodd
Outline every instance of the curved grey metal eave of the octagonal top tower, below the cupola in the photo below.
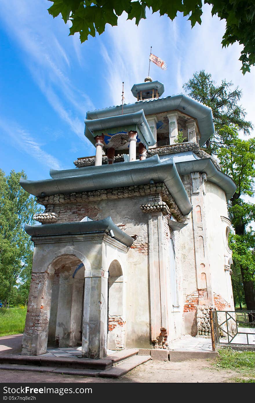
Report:
M 122 106 L 112 106 L 110 108 L 88 111 L 86 119 L 99 119 L 109 116 L 117 116 L 121 114 Z M 179 94 L 169 96 L 167 98 L 158 98 L 154 100 L 139 101 L 134 104 L 124 104 L 123 113 L 133 113 L 138 110 L 143 110 L 145 116 L 160 112 L 168 112 L 178 110 L 197 120 L 201 139 L 199 145 L 202 146 L 205 141 L 214 133 L 214 122 L 211 108 L 205 106 L 187 95 Z M 85 128 L 85 136 L 94 144 L 91 139 L 88 129 Z

